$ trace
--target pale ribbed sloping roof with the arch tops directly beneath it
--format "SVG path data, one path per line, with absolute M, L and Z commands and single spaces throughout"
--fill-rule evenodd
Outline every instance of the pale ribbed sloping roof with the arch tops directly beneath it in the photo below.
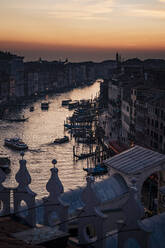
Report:
M 104 161 L 110 175 L 120 174 L 128 185 L 136 181 L 139 194 L 144 181 L 153 173 L 165 170 L 165 155 L 150 149 L 134 146 Z

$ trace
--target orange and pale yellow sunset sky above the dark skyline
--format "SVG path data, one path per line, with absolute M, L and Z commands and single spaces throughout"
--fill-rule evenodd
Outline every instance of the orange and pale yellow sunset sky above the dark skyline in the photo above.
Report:
M 165 58 L 165 0 L 0 0 L 0 50 L 25 60 Z

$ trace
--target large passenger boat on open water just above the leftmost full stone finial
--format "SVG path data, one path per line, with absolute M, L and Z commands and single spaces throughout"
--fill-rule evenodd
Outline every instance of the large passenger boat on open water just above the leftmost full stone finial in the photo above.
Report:
M 28 146 L 20 138 L 5 139 L 4 145 L 16 150 L 28 149 Z

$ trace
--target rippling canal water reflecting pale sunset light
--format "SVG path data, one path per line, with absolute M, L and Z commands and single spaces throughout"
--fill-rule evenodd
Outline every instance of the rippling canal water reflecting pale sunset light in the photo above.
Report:
M 4 147 L 5 138 L 20 137 L 28 145 L 24 158 L 27 160 L 27 168 L 32 178 L 30 188 L 37 193 L 37 198 L 48 194 L 46 183 L 50 178 L 52 160 L 57 160 L 56 167 L 59 169 L 59 177 L 64 185 L 64 191 L 75 189 L 85 183 L 86 160 L 73 161 L 74 139 L 69 143 L 53 145 L 55 138 L 64 135 L 64 120 L 72 115 L 73 111 L 61 106 L 64 99 L 72 100 L 94 98 L 99 94 L 100 84 L 73 89 L 67 93 L 48 96 L 48 111 L 41 110 L 42 99 L 33 103 L 34 112 L 30 112 L 31 105 L 21 110 L 21 115 L 29 118 L 25 122 L 0 121 L 0 154 L 7 155 L 11 160 L 11 173 L 7 175 L 4 185 L 8 187 L 17 186 L 15 174 L 19 169 L 19 151 Z

